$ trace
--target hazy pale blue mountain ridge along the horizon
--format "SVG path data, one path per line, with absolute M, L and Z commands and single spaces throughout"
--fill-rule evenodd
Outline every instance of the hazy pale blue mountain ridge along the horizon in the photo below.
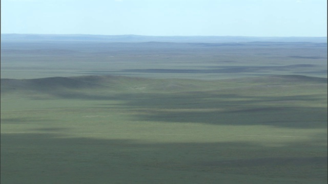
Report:
M 1 41 L 86 41 L 86 42 L 321 42 L 327 37 L 252 37 L 252 36 L 141 36 L 88 34 L 1 34 Z

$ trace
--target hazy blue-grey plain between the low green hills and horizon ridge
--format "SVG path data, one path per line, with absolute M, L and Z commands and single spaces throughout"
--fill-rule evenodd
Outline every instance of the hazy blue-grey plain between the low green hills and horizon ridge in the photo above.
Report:
M 2 42 L 1 78 L 81 75 L 223 79 L 327 76 L 327 47 L 311 42 Z

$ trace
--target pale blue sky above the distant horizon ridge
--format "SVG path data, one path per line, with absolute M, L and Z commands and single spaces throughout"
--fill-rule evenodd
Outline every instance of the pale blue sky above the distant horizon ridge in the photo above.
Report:
M 1 0 L 1 32 L 326 36 L 326 0 Z

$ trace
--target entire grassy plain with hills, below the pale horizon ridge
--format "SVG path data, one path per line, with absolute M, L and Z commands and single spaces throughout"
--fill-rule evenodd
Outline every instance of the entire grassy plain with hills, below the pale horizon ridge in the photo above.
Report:
M 2 183 L 326 183 L 321 42 L 8 41 Z

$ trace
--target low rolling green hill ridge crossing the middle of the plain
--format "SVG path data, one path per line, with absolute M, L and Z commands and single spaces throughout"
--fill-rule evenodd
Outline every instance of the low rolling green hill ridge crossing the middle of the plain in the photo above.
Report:
M 278 85 L 309 85 L 326 84 L 327 78 L 308 77 L 301 75 L 279 75 L 269 77 L 250 77 L 222 80 L 196 79 L 150 79 L 125 76 L 79 76 L 79 77 L 50 77 L 40 79 L 1 79 L 1 93 L 66 93 L 75 91 L 92 91 L 110 93 L 149 93 L 166 91 L 204 91 L 222 90 L 249 86 L 278 86 Z M 25 92 L 24 92 L 25 91 Z

